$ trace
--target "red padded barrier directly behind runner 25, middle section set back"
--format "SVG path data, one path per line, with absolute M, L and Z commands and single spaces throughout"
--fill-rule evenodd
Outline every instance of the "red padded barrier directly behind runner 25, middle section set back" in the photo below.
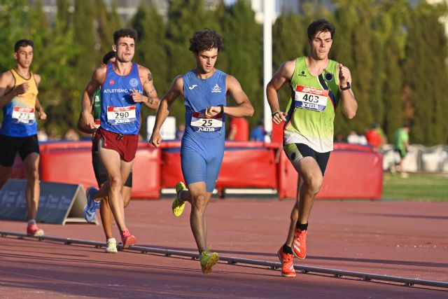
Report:
M 230 144 L 233 149 L 227 148 L 226 142 L 217 188 L 276 188 L 273 149 L 234 148 L 236 144 L 244 146 L 246 142 Z M 162 188 L 173 188 L 179 181 L 183 181 L 180 148 L 162 151 Z

